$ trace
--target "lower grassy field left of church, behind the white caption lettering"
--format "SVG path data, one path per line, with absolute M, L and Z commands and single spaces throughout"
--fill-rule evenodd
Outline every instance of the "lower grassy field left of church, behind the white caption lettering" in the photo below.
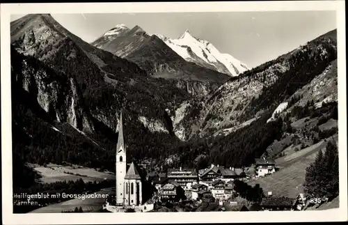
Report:
M 112 188 L 103 189 L 96 194 L 115 194 L 115 190 Z M 97 212 L 102 208 L 105 203 L 105 198 L 95 198 L 95 199 L 72 199 L 69 201 L 64 201 L 61 203 L 56 203 L 48 205 L 46 207 L 38 208 L 29 213 L 49 213 L 49 212 L 62 212 L 68 210 L 74 210 L 75 207 L 79 208 L 81 206 L 84 212 Z

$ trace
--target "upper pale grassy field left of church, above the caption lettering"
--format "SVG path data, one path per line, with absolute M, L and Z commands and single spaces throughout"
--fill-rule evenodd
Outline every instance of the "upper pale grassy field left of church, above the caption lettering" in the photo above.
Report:
M 54 183 L 63 180 L 78 180 L 82 178 L 84 182 L 102 181 L 105 179 L 115 179 L 113 173 L 100 172 L 95 169 L 86 168 L 83 166 L 61 166 L 57 164 L 47 164 L 47 166 L 38 166 L 30 164 L 30 166 L 40 173 L 42 183 Z

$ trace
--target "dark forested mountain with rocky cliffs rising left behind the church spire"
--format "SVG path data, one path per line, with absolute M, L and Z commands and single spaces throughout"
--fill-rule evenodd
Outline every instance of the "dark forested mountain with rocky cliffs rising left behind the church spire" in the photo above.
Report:
M 50 15 L 12 22 L 11 45 L 17 87 L 13 140 L 28 137 L 15 151 L 20 157 L 113 170 L 121 109 L 129 159 L 156 157 L 160 148 L 177 142 L 166 109 L 191 98 L 187 86 L 148 76 L 138 65 L 74 36 Z M 15 100 L 16 93 L 28 101 Z

